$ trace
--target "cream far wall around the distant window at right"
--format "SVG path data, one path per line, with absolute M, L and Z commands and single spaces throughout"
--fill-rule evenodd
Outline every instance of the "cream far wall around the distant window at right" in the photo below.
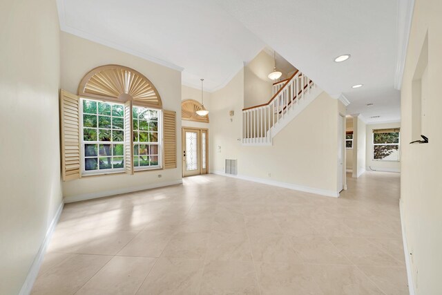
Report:
M 385 123 L 385 124 L 370 124 L 367 125 L 367 155 L 366 155 L 366 166 L 367 171 L 371 169 L 378 171 L 390 171 L 390 172 L 401 172 L 401 162 L 397 161 L 376 161 L 373 160 L 373 130 L 374 129 L 387 129 L 387 128 L 399 128 L 401 127 L 401 122 L 396 123 Z M 403 142 L 401 140 L 400 144 Z M 401 147 L 401 146 L 399 146 Z M 399 151 L 401 153 L 401 151 Z

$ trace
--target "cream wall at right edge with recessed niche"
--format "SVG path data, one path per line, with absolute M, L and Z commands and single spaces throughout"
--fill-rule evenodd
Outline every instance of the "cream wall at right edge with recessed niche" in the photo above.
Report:
M 442 1 L 416 0 L 401 89 L 401 218 L 416 294 L 442 294 Z M 428 33 L 423 132 L 428 144 L 408 144 L 412 136 L 412 80 Z M 425 55 L 425 54 L 424 54 Z M 425 68 L 425 64 L 423 65 Z M 419 79 L 419 75 L 416 75 Z M 420 134 L 417 131 L 418 135 Z

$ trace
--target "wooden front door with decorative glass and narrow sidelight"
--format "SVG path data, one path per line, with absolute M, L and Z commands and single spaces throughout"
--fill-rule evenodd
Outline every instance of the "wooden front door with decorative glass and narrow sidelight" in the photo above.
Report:
M 205 129 L 182 129 L 182 175 L 207 173 L 207 131 Z

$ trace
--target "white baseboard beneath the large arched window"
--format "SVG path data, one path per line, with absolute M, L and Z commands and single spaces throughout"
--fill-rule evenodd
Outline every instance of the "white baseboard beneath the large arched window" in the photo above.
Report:
M 120 193 L 132 193 L 133 191 L 144 191 L 145 189 L 156 189 L 157 187 L 169 187 L 169 185 L 182 184 L 182 179 L 171 180 L 164 182 L 153 182 L 149 184 L 140 185 L 137 187 L 124 187 L 122 189 L 113 189 L 111 191 L 97 191 L 95 193 L 84 193 L 77 196 L 64 197 L 65 203 L 79 202 L 84 200 L 91 200 L 96 198 L 103 198 L 108 196 L 119 195 Z

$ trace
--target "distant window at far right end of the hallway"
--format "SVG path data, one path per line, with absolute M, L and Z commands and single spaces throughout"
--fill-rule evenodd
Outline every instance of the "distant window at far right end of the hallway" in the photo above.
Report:
M 399 160 L 398 129 L 373 131 L 373 160 L 398 161 Z

